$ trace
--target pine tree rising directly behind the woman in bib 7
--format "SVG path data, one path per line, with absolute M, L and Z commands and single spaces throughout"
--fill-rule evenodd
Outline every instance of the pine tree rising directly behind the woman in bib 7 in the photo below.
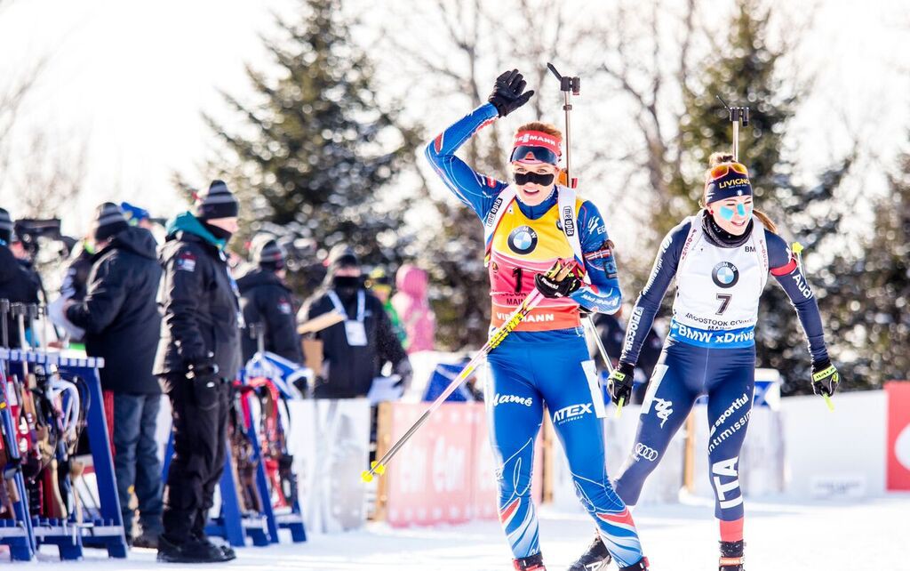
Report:
M 750 107 L 750 125 L 740 133 L 739 159 L 749 168 L 756 208 L 769 213 L 785 240 L 800 240 L 811 259 L 839 229 L 841 213 L 835 208 L 834 193 L 852 158 L 824 172 L 813 188 L 794 182 L 794 165 L 785 157 L 784 139 L 803 89 L 782 79 L 780 61 L 787 47 L 769 44 L 769 15 L 770 9 L 756 0 L 738 0 L 723 53 L 716 54 L 713 62 L 703 66 L 701 76 L 689 84 L 696 87 L 683 89 L 683 162 L 679 170 L 667 173 L 676 199 L 655 210 L 655 223 L 665 232 L 683 216 L 697 211 L 708 158 L 715 151 L 731 148 L 732 127 L 717 99 L 720 96 L 730 106 Z M 831 207 L 828 216 L 810 216 L 810 205 L 822 203 Z M 803 333 L 780 288 L 769 286 L 764 291 L 755 338 L 758 365 L 782 373 L 784 393 L 811 390 L 811 362 Z

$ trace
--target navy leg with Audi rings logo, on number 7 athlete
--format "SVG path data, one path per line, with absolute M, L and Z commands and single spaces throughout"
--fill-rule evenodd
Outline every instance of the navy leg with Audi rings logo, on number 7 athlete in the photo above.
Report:
M 692 410 L 703 386 L 706 351 L 682 343 L 664 347 L 642 403 L 635 444 L 616 479 L 616 493 L 636 505 L 647 477 Z

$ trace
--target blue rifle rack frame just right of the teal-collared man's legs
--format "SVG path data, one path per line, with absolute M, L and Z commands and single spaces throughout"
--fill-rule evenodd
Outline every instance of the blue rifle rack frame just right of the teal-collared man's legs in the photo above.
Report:
M 306 525 L 303 521 L 302 510 L 300 509 L 299 494 L 294 498 L 290 513 L 275 513 L 270 499 L 271 491 L 268 488 L 268 477 L 266 475 L 265 465 L 262 462 L 262 450 L 259 447 L 259 435 L 256 432 L 256 424 L 250 422 L 250 418 L 245 420 L 247 421 L 246 432 L 257 460 L 256 487 L 259 496 L 262 498 L 262 511 L 254 514 L 244 514 L 241 509 L 240 498 L 237 494 L 237 482 L 234 480 L 234 471 L 231 469 L 233 458 L 230 444 L 226 443 L 227 454 L 225 454 L 224 472 L 221 474 L 221 480 L 218 482 L 218 489 L 221 492 L 221 513 L 209 521 L 206 526 L 206 534 L 215 537 L 223 537 L 227 540 L 228 544 L 234 547 L 246 546 L 247 537 L 252 540 L 254 546 L 258 547 L 277 544 L 279 529 L 288 529 L 290 531 L 292 543 L 307 541 Z M 167 448 L 165 449 L 165 461 L 162 472 L 165 482 L 167 482 L 167 470 L 173 455 L 174 434 L 172 432 L 167 439 Z

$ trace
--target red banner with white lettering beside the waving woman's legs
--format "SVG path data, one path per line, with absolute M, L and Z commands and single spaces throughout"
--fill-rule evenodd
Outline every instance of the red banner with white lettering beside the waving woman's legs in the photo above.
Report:
M 425 403 L 393 403 L 390 442 L 420 418 Z M 534 463 L 540 498 L 541 454 Z M 383 476 L 393 527 L 459 524 L 497 517 L 495 462 L 482 403 L 447 403 L 414 434 Z

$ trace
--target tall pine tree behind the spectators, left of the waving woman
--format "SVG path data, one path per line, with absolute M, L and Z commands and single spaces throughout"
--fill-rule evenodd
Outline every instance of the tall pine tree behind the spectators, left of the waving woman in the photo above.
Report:
M 373 66 L 339 0 L 300 0 L 299 13 L 266 40 L 278 78 L 248 68 L 259 103 L 224 94 L 243 127 L 206 117 L 227 148 L 229 168 L 215 167 L 243 201 L 245 236 L 285 228 L 322 250 L 344 241 L 367 264 L 397 263 L 408 198 L 387 195 L 413 159 L 413 132 L 375 97 Z

